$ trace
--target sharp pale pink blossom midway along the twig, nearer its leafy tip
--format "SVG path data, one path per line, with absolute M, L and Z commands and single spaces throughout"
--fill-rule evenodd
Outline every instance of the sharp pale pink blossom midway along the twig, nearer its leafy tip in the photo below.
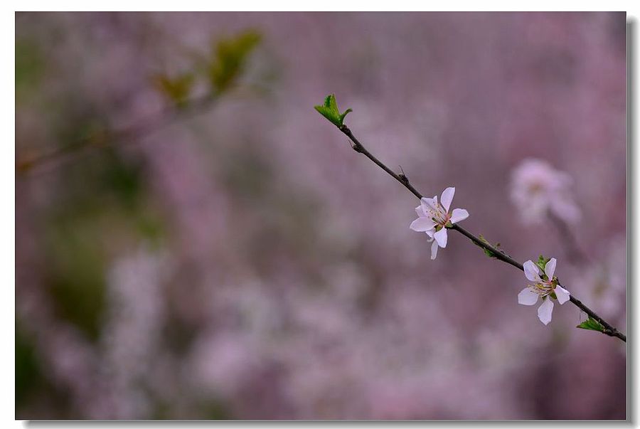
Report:
M 456 192 L 455 188 L 447 188 L 442 191 L 440 203 L 438 196 L 433 198 L 421 198 L 420 206 L 415 208 L 418 218 L 411 223 L 409 228 L 413 231 L 424 232 L 429 235 L 429 241 L 433 241 L 431 245 L 431 259 L 434 260 L 438 253 L 438 247 L 447 247 L 447 226 L 454 223 L 464 221 L 469 217 L 469 212 L 464 208 L 454 208 L 449 213 L 449 206 Z

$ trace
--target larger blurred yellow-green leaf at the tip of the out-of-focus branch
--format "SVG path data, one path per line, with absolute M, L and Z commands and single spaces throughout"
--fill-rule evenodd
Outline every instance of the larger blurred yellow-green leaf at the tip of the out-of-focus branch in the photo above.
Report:
M 235 85 L 261 38 L 257 31 L 248 30 L 215 43 L 208 61 L 208 78 L 216 93 L 225 92 Z

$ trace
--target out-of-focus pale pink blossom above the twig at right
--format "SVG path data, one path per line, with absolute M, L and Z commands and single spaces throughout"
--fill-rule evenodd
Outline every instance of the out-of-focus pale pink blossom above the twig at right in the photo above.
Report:
M 525 159 L 511 174 L 511 201 L 525 223 L 542 223 L 553 214 L 563 221 L 580 219 L 572 202 L 571 177 L 542 159 Z

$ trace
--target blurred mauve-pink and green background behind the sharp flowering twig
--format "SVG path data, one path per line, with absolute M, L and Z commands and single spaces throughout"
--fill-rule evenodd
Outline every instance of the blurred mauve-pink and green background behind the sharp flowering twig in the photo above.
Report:
M 625 19 L 16 14 L 16 417 L 624 419 Z

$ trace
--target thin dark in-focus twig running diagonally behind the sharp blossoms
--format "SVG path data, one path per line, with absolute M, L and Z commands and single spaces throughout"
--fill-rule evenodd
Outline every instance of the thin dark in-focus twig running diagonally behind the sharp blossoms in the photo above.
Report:
M 341 125 L 341 126 L 338 127 L 338 129 L 340 129 L 341 132 L 343 132 L 349 139 L 351 139 L 351 142 L 353 142 L 353 145 L 351 146 L 353 150 L 355 150 L 358 153 L 363 154 L 368 159 L 373 161 L 374 164 L 376 164 L 381 169 L 386 171 L 390 176 L 393 177 L 393 179 L 399 181 L 400 184 L 402 184 L 402 186 L 405 186 L 405 188 L 409 189 L 409 191 L 413 195 L 417 196 L 417 198 L 422 198 L 422 194 L 420 194 L 420 192 L 418 192 L 412 186 L 412 184 L 410 184 L 409 179 L 407 178 L 407 176 L 405 176 L 404 173 L 395 174 L 388 166 L 383 164 L 378 158 L 374 157 L 361 144 L 361 142 L 359 142 L 358 139 L 356 139 L 356 136 L 353 135 L 353 133 L 351 132 L 351 129 L 348 129 L 348 127 L 346 125 Z M 511 258 L 510 256 L 506 255 L 501 250 L 498 250 L 498 249 L 494 248 L 494 246 L 492 246 L 486 240 L 481 240 L 480 238 L 476 237 L 475 235 L 473 235 L 469 231 L 466 231 L 466 229 L 462 228 L 462 226 L 459 226 L 458 224 L 454 224 L 453 226 L 447 227 L 447 228 L 461 233 L 466 238 L 469 238 L 469 240 L 471 240 L 474 244 L 479 245 L 484 250 L 487 250 L 487 251 L 491 252 L 493 254 L 494 258 L 496 258 L 498 260 L 501 260 L 504 263 L 508 263 L 509 265 L 513 265 L 514 267 L 518 268 L 518 270 L 524 271 L 524 268 L 523 268 L 521 263 L 518 263 L 518 261 L 516 261 L 513 258 Z M 558 283 L 558 285 L 560 285 L 560 283 Z M 562 287 L 562 285 L 560 285 L 560 286 Z M 612 327 L 611 324 L 607 323 L 604 319 L 602 319 L 602 317 L 599 317 L 592 309 L 587 307 L 585 304 L 582 304 L 582 302 L 580 300 L 578 300 L 576 297 L 574 297 L 573 294 L 570 295 L 570 301 L 576 307 L 578 307 L 583 312 L 587 313 L 590 317 L 592 317 L 593 319 L 597 320 L 597 322 L 602 324 L 602 327 L 604 327 L 604 329 L 602 329 L 602 331 L 599 331 L 599 332 L 602 332 L 605 335 L 609 335 L 609 337 L 617 337 L 619 339 L 622 339 L 622 341 L 626 342 L 626 335 L 622 334 L 616 328 Z

